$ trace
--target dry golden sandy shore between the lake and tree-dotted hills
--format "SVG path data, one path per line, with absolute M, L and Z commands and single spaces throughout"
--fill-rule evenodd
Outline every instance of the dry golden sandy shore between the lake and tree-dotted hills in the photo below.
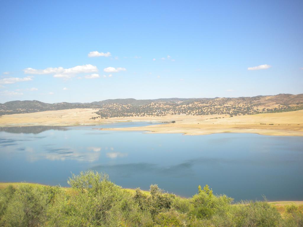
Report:
M 102 125 L 116 122 L 169 122 L 145 127 L 128 127 L 102 130 L 148 131 L 147 133 L 183 133 L 206 135 L 212 133 L 258 133 L 271 136 L 303 136 L 303 110 L 262 113 L 255 115 L 168 115 L 163 117 L 97 117 L 94 109 L 55 110 L 20 113 L 0 117 L 0 127 L 12 126 L 80 126 Z M 175 123 L 170 123 L 171 121 Z

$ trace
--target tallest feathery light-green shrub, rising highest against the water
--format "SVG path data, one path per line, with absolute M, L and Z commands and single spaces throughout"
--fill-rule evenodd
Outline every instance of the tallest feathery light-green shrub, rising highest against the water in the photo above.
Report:
M 75 191 L 54 204 L 52 225 L 119 226 L 123 223 L 120 187 L 108 176 L 93 171 L 72 175 L 68 184 Z

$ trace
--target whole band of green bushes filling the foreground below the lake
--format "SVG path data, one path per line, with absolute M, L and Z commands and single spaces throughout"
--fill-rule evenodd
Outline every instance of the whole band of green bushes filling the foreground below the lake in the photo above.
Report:
M 303 226 L 298 206 L 286 206 L 281 216 L 266 201 L 232 204 L 207 185 L 186 199 L 158 185 L 151 185 L 149 193 L 139 188 L 131 193 L 93 171 L 72 175 L 68 184 L 69 189 L 26 184 L 1 189 L 0 226 Z

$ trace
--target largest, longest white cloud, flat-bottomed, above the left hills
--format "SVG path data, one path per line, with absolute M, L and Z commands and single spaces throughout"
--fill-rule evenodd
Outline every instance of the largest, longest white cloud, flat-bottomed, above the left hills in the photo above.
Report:
M 72 68 L 46 68 L 46 69 L 33 69 L 33 68 L 26 68 L 23 70 L 25 74 L 38 74 L 38 75 L 44 75 L 44 74 L 54 74 L 54 77 L 58 78 L 65 78 L 70 79 L 74 77 L 75 74 L 79 73 L 92 73 L 92 72 L 98 72 L 98 68 L 91 64 L 86 65 L 77 65 Z

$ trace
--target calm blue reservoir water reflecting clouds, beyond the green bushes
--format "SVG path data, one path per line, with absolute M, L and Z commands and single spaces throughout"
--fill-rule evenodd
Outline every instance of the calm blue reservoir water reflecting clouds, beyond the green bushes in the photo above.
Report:
M 115 123 L 99 127 L 133 127 Z M 198 185 L 235 200 L 303 200 L 303 137 L 201 136 L 81 127 L 0 128 L 0 182 L 68 186 L 71 172 L 108 173 L 126 188 L 192 196 Z

